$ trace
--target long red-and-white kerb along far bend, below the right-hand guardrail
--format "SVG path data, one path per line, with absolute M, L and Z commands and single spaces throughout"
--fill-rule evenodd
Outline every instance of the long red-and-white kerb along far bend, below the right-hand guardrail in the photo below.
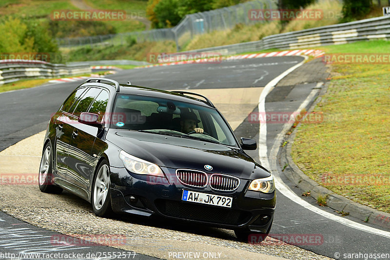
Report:
M 222 60 L 243 60 L 243 59 L 254 59 L 254 58 L 264 58 L 264 57 L 299 56 L 299 55 L 308 55 L 308 56 L 318 58 L 323 56 L 324 54 L 325 52 L 321 50 L 292 50 L 292 51 L 278 51 L 278 52 L 270 52 L 270 53 L 235 55 L 235 56 L 222 57 Z M 202 59 L 202 60 L 205 60 L 207 62 L 207 59 Z M 201 63 L 201 60 L 183 60 L 183 61 L 175 61 L 169 63 L 159 63 L 159 64 L 147 65 L 142 67 L 136 67 L 136 69 L 150 68 L 156 66 L 189 64 L 189 63 Z

